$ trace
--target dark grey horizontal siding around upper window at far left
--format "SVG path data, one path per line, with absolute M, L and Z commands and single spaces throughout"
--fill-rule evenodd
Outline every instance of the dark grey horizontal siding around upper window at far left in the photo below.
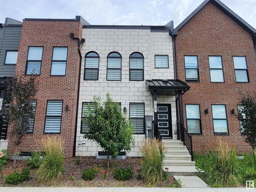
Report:
M 19 40 L 22 26 L 20 27 L 4 27 L 3 39 L 0 49 L 0 77 L 13 77 L 16 65 L 4 65 L 6 51 L 19 49 Z

